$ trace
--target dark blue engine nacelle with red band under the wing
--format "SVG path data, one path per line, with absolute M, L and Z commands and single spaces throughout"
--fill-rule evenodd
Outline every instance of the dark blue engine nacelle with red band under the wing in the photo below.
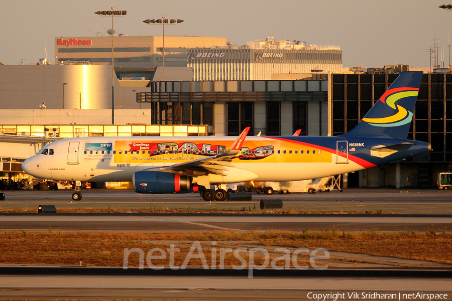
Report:
M 178 174 L 139 171 L 132 176 L 134 190 L 138 193 L 173 193 L 191 190 L 191 180 L 189 176 Z

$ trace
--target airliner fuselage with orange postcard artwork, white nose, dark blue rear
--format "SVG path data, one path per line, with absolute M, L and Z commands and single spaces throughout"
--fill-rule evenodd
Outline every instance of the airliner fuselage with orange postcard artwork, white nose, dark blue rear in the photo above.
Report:
M 52 142 L 23 163 L 37 178 L 58 181 L 132 181 L 134 172 L 213 157 L 236 137 L 75 137 Z M 379 153 L 378 146 L 414 143 Z M 211 184 L 298 181 L 339 175 L 427 152 L 428 143 L 393 138 L 247 136 L 227 176 L 209 174 Z M 388 155 L 389 154 L 389 155 Z

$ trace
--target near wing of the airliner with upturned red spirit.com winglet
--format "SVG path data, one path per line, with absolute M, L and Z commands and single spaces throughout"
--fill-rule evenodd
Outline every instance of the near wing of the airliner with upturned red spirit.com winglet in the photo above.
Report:
M 231 147 L 220 155 L 161 167 L 159 170 L 187 176 L 202 176 L 206 173 L 226 176 L 227 174 L 223 171 L 228 171 L 228 167 L 234 167 L 234 164 L 231 163 L 231 161 L 240 153 L 240 149 L 242 148 L 242 144 L 245 141 L 249 130 L 250 127 L 246 127 Z

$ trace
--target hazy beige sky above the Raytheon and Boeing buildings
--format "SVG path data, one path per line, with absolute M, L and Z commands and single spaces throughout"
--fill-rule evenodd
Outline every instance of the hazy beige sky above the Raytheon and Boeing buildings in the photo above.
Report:
M 450 0 L 452 2 L 452 0 Z M 114 29 L 129 36 L 159 36 L 146 19 L 182 19 L 165 36 L 226 37 L 233 45 L 275 39 L 308 45 L 339 45 L 343 66 L 430 66 L 434 39 L 449 65 L 452 11 L 436 0 L 15 0 L 2 1 L 0 62 L 18 65 L 55 61 L 55 37 L 107 36 L 111 18 L 96 11 L 126 10 Z

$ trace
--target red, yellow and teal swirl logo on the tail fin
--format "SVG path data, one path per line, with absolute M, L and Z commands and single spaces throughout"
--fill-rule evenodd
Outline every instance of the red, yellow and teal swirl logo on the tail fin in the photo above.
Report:
M 373 126 L 399 126 L 404 125 L 411 122 L 413 117 L 413 112 L 408 111 L 403 106 L 396 104 L 396 101 L 411 96 L 417 96 L 419 92 L 419 88 L 394 88 L 387 90 L 381 97 L 380 101 L 387 104 L 389 107 L 395 110 L 393 115 L 387 117 L 380 118 L 363 118 L 363 121 L 366 121 L 370 125 Z

